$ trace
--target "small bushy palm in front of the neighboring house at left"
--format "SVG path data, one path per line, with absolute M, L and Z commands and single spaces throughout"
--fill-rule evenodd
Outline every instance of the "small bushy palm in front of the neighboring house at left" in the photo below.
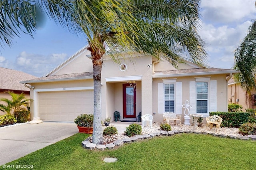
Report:
M 11 99 L 1 98 L 0 101 L 7 105 L 0 104 L 0 111 L 11 114 L 15 111 L 26 110 L 26 106 L 30 103 L 30 99 L 26 99 L 24 93 L 16 94 L 12 91 L 6 92 L 11 96 Z M 22 107 L 25 106 L 25 107 Z

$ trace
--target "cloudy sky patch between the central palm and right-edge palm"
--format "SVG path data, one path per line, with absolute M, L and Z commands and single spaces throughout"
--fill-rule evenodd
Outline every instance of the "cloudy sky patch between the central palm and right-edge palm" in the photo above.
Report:
M 234 65 L 234 50 L 256 19 L 254 0 L 202 0 L 202 25 L 199 30 L 206 42 L 209 65 L 230 69 Z

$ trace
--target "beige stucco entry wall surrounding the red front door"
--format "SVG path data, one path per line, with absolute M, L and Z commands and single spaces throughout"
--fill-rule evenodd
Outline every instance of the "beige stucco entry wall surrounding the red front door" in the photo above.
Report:
M 120 63 L 115 63 L 112 59 L 106 57 L 102 67 L 102 112 L 106 111 L 106 116 L 112 117 L 114 120 L 114 111 L 119 111 L 121 119 L 123 119 L 123 90 L 122 84 L 136 83 L 136 115 L 142 111 L 142 115 L 146 113 L 152 114 L 152 67 L 148 67 L 152 63 L 151 56 L 134 56 L 128 58 L 120 58 L 120 63 L 125 63 L 127 69 L 121 71 Z M 142 76 L 141 80 L 122 80 L 130 76 Z M 106 82 L 110 77 L 120 78 L 117 82 Z M 102 113 L 104 115 L 104 113 Z

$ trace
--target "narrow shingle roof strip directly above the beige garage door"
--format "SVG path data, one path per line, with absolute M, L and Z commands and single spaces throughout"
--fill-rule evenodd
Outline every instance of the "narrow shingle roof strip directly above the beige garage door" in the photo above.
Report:
M 40 83 L 40 82 L 52 82 L 52 81 L 66 81 L 66 80 L 78 80 L 78 79 L 92 79 L 93 72 L 87 73 L 72 73 L 64 75 L 51 75 L 46 77 L 40 77 L 37 79 L 30 79 L 22 81 L 20 83 Z

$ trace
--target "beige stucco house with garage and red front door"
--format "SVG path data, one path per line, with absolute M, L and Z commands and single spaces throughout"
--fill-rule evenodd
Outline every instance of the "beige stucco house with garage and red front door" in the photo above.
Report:
M 90 51 L 80 49 L 58 67 L 37 79 L 22 81 L 33 86 L 31 115 L 42 121 L 73 122 L 81 113 L 93 113 L 93 70 Z M 185 61 L 174 68 L 165 59 L 141 53 L 124 53 L 114 62 L 106 53 L 102 67 L 102 120 L 119 111 L 121 120 L 152 114 L 163 121 L 164 112 L 184 116 L 186 100 L 190 113 L 204 117 L 211 111 L 227 111 L 227 85 L 232 69 L 201 68 Z M 182 120 L 183 121 L 183 120 Z M 190 120 L 192 121 L 192 120 Z

